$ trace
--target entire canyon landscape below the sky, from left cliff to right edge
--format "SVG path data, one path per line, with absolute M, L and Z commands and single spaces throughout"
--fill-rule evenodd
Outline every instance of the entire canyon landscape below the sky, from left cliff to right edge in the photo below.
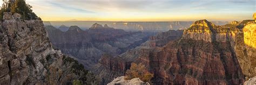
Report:
M 43 22 L 25 1 L 3 2 L 0 84 L 256 81 L 255 20 Z

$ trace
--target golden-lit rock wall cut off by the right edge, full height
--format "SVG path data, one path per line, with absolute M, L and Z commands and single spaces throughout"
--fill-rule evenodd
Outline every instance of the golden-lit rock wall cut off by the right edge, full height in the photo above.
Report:
M 246 76 L 246 80 L 256 76 L 255 24 L 248 24 L 235 42 L 235 53 Z

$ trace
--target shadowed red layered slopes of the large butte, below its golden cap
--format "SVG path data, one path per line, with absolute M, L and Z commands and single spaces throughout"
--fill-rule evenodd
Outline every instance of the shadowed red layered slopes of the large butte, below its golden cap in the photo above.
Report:
M 223 42 L 183 39 L 136 62 L 146 63 L 154 84 L 241 84 L 244 75 L 230 48 Z

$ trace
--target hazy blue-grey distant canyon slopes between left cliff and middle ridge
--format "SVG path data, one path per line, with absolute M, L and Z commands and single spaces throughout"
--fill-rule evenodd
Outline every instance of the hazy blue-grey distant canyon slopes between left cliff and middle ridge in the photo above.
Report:
M 64 54 L 75 56 L 86 69 L 98 63 L 103 54 L 118 55 L 145 42 L 151 33 L 126 32 L 107 25 L 93 24 L 91 29 L 83 31 L 78 26 L 71 26 L 61 32 L 53 26 L 46 26 L 53 47 Z

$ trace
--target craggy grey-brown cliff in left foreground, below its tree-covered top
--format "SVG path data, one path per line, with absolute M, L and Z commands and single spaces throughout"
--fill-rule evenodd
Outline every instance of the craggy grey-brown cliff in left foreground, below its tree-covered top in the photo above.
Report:
M 0 84 L 95 83 L 83 65 L 52 48 L 41 20 L 4 14 L 0 23 Z

